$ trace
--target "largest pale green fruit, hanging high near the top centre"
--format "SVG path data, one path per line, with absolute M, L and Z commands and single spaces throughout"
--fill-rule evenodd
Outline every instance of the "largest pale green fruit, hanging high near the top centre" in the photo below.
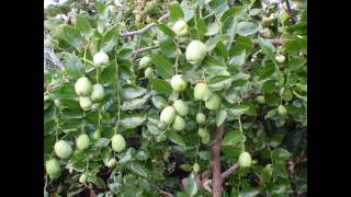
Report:
M 185 58 L 190 65 L 200 65 L 207 53 L 206 45 L 200 40 L 192 40 L 185 50 Z

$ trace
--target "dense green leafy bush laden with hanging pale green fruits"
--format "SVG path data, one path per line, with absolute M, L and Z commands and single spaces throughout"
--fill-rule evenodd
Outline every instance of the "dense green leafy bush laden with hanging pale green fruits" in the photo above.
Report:
M 44 193 L 212 196 L 218 144 L 222 196 L 306 195 L 306 2 L 280 3 L 45 9 Z

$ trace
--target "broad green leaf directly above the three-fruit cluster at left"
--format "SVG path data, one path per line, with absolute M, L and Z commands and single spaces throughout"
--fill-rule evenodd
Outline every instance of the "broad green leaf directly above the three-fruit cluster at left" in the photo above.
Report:
M 69 76 L 75 79 L 79 79 L 84 76 L 84 65 L 80 61 L 80 59 L 73 54 L 66 53 L 66 70 Z

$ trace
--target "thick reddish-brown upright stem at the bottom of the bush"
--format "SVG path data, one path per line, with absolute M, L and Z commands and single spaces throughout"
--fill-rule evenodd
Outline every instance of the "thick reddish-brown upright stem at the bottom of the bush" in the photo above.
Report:
M 212 165 L 213 165 L 213 197 L 222 195 L 222 174 L 220 174 L 220 142 L 224 134 L 224 124 L 216 129 L 215 142 L 212 146 Z

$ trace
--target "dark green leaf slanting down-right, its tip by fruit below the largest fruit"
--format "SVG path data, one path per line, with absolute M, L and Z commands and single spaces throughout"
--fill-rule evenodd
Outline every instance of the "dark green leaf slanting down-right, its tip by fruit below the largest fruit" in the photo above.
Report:
M 163 79 L 170 79 L 173 77 L 173 66 L 169 59 L 161 54 L 152 54 L 151 59 L 156 70 Z

